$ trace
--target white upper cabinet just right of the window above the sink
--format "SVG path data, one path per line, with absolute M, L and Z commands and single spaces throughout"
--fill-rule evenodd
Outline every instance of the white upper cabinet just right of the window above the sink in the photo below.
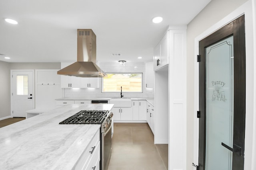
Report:
M 154 88 L 154 61 L 145 63 L 145 72 L 146 88 Z

